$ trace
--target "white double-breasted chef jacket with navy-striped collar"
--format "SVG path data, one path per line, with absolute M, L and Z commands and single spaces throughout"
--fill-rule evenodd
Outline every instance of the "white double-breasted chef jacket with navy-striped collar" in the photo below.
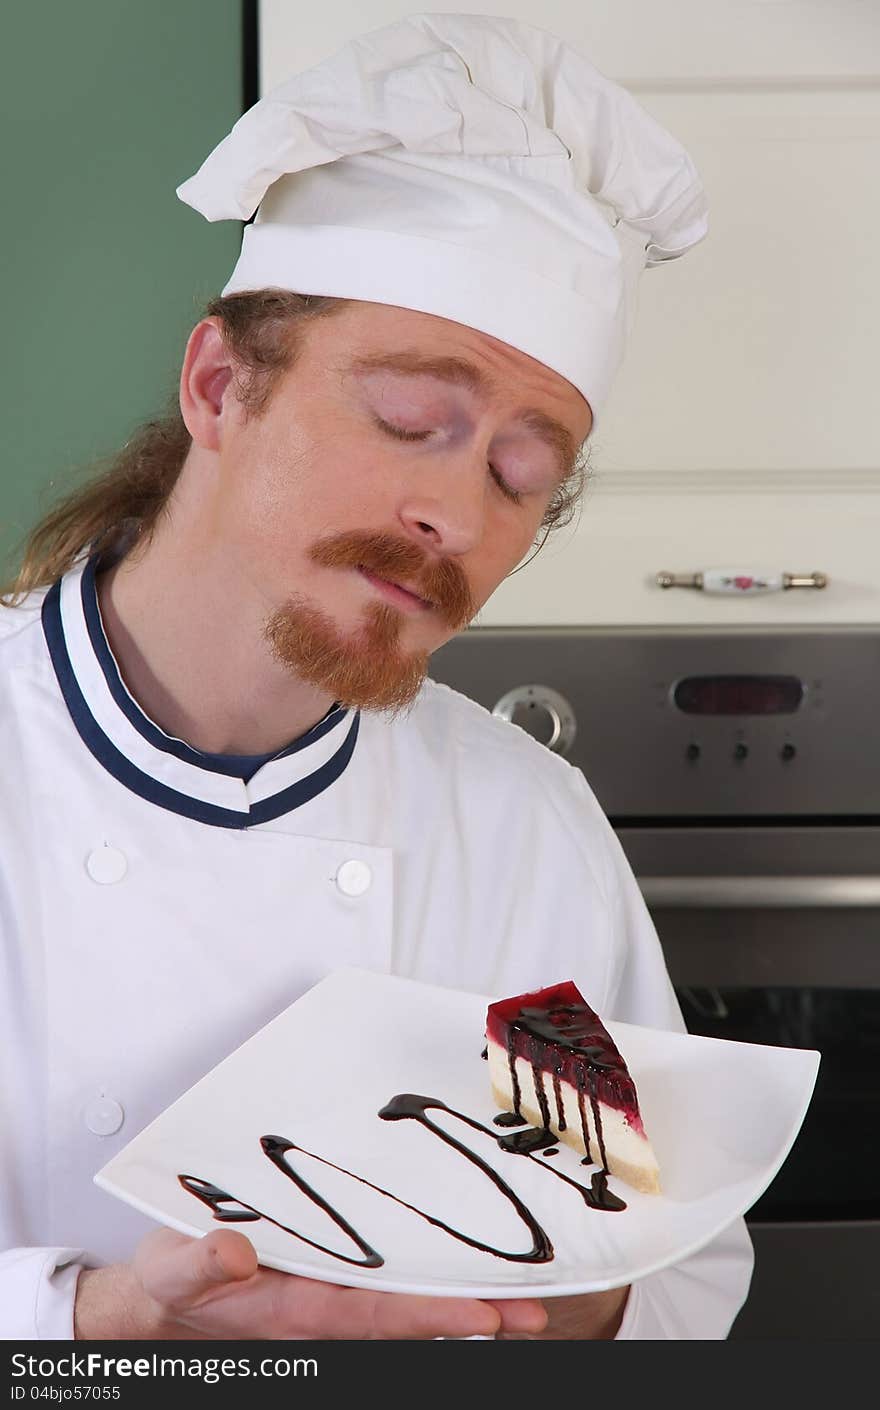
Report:
M 157 1227 L 96 1170 L 338 966 L 573 979 L 605 1018 L 684 1028 L 584 776 L 444 685 L 333 709 L 245 781 L 138 708 L 79 564 L 0 608 L 0 760 L 4 1338 L 72 1338 L 80 1268 Z M 637 1282 L 618 1337 L 723 1338 L 750 1275 L 739 1220 Z

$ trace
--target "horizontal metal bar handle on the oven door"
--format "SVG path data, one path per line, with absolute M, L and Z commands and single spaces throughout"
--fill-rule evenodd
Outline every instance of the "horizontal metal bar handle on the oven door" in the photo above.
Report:
M 754 908 L 880 907 L 880 877 L 637 877 L 647 905 L 726 911 Z

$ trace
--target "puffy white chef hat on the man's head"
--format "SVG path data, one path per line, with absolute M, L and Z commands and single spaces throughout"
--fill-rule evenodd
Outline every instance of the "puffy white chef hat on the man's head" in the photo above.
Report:
M 589 402 L 646 265 L 707 233 L 684 148 L 556 35 L 420 14 L 254 104 L 178 196 L 250 220 L 223 293 L 282 288 L 453 319 Z

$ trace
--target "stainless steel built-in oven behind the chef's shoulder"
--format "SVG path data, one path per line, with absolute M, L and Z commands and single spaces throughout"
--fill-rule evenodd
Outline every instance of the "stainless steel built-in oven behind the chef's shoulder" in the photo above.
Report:
M 692 1032 L 822 1053 L 732 1338 L 877 1338 L 880 629 L 471 629 L 432 675 L 584 770 Z

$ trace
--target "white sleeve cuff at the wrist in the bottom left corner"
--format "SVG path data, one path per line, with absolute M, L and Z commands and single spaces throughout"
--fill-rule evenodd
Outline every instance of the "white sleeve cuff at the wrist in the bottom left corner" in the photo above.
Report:
M 11 1248 L 0 1253 L 4 1341 L 73 1341 L 80 1248 Z

